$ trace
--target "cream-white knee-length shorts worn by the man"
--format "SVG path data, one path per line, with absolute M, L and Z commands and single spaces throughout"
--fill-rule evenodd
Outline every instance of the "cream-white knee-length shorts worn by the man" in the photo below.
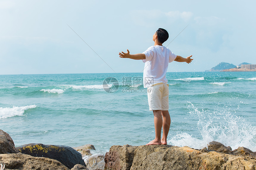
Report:
M 148 87 L 149 110 L 169 109 L 169 84 L 157 83 Z

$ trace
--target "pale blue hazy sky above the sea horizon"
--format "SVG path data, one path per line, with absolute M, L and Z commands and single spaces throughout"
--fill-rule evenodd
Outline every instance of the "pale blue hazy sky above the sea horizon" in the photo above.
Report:
M 146 51 L 158 28 L 169 33 L 164 46 L 194 59 L 171 62 L 167 72 L 256 64 L 255 6 L 236 0 L 0 0 L 0 74 L 143 72 L 145 63 L 118 53 Z

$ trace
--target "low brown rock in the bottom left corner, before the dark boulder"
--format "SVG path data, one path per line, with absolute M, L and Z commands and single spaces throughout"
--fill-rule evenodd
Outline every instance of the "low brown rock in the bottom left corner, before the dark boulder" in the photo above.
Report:
M 69 170 L 55 159 L 33 157 L 22 153 L 0 154 L 0 162 L 5 170 Z

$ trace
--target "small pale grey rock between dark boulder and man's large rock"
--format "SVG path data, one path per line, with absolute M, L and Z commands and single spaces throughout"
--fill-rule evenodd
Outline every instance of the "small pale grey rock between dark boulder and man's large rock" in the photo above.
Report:
M 103 154 L 88 156 L 87 158 L 85 158 L 86 167 L 89 170 L 103 170 L 105 166 L 104 158 L 105 155 Z

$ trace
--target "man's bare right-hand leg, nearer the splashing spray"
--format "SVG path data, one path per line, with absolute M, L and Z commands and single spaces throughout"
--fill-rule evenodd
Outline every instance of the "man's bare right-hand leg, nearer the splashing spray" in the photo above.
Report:
M 163 116 L 163 137 L 161 139 L 161 143 L 163 145 L 167 145 L 167 135 L 170 129 L 171 118 L 168 110 L 162 110 Z

